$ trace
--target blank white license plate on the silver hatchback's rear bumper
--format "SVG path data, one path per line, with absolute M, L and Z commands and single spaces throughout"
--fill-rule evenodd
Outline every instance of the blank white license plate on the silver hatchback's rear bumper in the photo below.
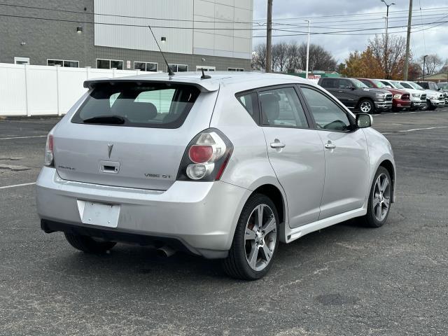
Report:
M 83 224 L 116 228 L 120 216 L 120 205 L 102 204 L 78 200 L 78 211 Z

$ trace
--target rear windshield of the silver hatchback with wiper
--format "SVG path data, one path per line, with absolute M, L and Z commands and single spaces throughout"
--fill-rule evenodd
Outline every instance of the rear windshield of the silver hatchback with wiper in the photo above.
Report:
M 178 128 L 200 91 L 170 83 L 104 83 L 94 87 L 72 123 Z

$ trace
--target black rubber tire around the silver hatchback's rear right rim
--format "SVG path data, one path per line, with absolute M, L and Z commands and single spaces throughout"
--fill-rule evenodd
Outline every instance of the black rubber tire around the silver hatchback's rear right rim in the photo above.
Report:
M 275 244 L 272 249 L 272 258 L 270 258 L 265 268 L 257 271 L 253 269 L 246 258 L 246 225 L 253 214 L 253 211 L 257 209 L 260 204 L 265 204 L 272 210 L 275 218 Z M 274 231 L 272 231 L 274 234 Z M 267 236 L 266 236 L 267 237 Z M 269 197 L 261 194 L 254 194 L 247 200 L 246 204 L 241 211 L 239 220 L 237 223 L 237 228 L 235 229 L 235 235 L 233 237 L 232 246 L 230 247 L 229 255 L 225 260 L 223 260 L 224 271 L 235 279 L 242 280 L 256 280 L 265 276 L 269 269 L 272 267 L 272 262 L 274 261 L 276 250 L 279 246 L 279 215 L 277 214 L 274 202 L 272 202 Z M 259 254 L 257 254 L 259 255 Z M 258 257 L 257 257 L 258 258 Z

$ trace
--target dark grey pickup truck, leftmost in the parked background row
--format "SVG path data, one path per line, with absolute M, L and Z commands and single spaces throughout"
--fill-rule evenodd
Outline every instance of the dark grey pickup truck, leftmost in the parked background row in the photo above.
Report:
M 354 78 L 321 78 L 324 87 L 351 110 L 363 113 L 381 113 L 392 109 L 392 94 L 386 90 L 370 89 Z

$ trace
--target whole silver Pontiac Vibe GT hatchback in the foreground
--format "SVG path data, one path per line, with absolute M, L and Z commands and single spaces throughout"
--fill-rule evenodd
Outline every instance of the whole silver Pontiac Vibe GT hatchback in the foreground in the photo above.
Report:
M 85 87 L 48 134 L 37 180 L 41 228 L 81 251 L 187 251 L 259 279 L 280 241 L 356 217 L 386 222 L 391 144 L 307 80 L 178 73 Z

